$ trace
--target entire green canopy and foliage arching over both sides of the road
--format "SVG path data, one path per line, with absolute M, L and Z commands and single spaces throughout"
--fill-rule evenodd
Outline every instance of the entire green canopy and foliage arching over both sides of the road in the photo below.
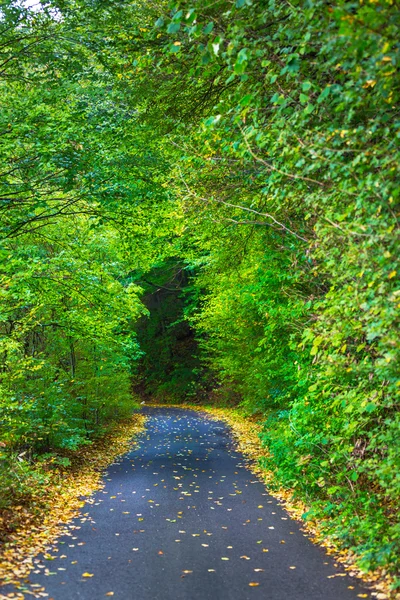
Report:
M 239 399 L 266 415 L 277 480 L 394 571 L 397 4 L 10 1 L 1 19 L 7 444 L 83 443 L 132 371 L 158 397 Z

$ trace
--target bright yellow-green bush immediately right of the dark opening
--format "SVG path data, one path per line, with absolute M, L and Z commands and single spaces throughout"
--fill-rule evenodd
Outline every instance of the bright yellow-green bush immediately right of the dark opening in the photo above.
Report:
M 300 295 L 287 294 L 293 277 L 285 258 L 263 237 L 239 231 L 229 251 L 224 236 L 213 244 L 196 280 L 204 290 L 189 320 L 199 335 L 206 364 L 222 390 L 242 399 L 249 412 L 285 406 L 293 398 L 297 353 L 292 339 L 306 314 Z M 245 251 L 243 250 L 245 245 Z M 219 246 L 219 247 L 218 247 Z

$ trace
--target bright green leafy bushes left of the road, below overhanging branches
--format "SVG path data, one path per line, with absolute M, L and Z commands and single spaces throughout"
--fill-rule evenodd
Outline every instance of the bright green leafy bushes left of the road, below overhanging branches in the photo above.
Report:
M 113 236 L 76 225 L 2 248 L 1 426 L 12 448 L 76 447 L 129 404 L 138 289 L 119 281 Z

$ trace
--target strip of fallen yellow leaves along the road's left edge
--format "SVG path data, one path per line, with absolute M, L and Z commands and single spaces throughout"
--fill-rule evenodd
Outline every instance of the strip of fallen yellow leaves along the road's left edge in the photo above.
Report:
M 84 499 L 103 487 L 103 470 L 129 450 L 143 431 L 145 421 L 145 416 L 135 413 L 114 424 L 92 444 L 76 452 L 65 452 L 69 464 L 64 468 L 51 460 L 36 467 L 36 474 L 45 477 L 45 484 L 32 487 L 29 495 L 18 499 L 18 504 L 0 511 L 0 586 L 23 585 L 33 569 L 35 556 L 47 556 L 53 541 L 85 505 Z

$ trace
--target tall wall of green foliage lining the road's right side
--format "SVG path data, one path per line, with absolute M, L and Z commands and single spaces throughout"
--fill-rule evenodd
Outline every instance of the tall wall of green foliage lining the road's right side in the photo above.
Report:
M 368 568 L 399 540 L 398 23 L 386 1 L 164 5 L 145 115 L 174 123 L 203 360 L 278 410 L 269 466 Z

